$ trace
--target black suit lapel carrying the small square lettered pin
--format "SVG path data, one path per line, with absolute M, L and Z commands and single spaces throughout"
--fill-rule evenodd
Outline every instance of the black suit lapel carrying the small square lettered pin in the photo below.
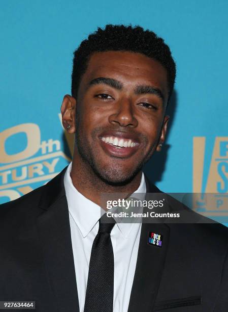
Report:
M 146 179 L 147 193 L 160 192 Z M 149 232 L 162 235 L 162 247 L 148 244 Z M 128 312 L 153 310 L 164 268 L 170 228 L 162 223 L 142 223 L 137 265 Z

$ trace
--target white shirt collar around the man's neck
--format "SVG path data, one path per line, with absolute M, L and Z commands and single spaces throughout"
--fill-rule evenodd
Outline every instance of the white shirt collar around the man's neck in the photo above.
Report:
M 83 196 L 73 185 L 70 176 L 72 163 L 69 164 L 64 175 L 64 188 L 68 202 L 69 213 L 77 224 L 79 230 L 85 238 L 101 218 L 101 207 Z M 146 193 L 146 183 L 142 173 L 141 183 L 135 193 Z M 135 196 L 136 197 L 136 196 Z M 134 223 L 117 223 L 117 226 L 123 236 L 129 235 Z

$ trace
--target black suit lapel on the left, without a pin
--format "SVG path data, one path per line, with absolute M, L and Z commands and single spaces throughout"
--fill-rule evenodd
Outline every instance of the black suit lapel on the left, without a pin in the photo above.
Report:
M 50 288 L 59 311 L 79 312 L 74 257 L 63 170 L 44 188 L 37 218 Z

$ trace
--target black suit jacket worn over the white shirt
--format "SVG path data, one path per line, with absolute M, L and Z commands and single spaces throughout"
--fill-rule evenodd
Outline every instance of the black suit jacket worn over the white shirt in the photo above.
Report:
M 79 312 L 64 172 L 0 206 L 0 301 Z M 161 248 L 148 244 L 150 231 Z M 128 312 L 228 311 L 227 238 L 221 224 L 143 223 Z

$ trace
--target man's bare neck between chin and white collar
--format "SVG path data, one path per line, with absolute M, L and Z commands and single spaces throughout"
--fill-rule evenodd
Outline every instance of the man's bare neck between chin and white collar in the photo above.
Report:
M 124 193 L 118 198 L 127 198 L 140 186 L 142 171 L 125 185 L 113 186 L 97 176 L 90 165 L 74 154 L 71 168 L 71 179 L 74 187 L 86 198 L 102 206 L 101 193 Z

